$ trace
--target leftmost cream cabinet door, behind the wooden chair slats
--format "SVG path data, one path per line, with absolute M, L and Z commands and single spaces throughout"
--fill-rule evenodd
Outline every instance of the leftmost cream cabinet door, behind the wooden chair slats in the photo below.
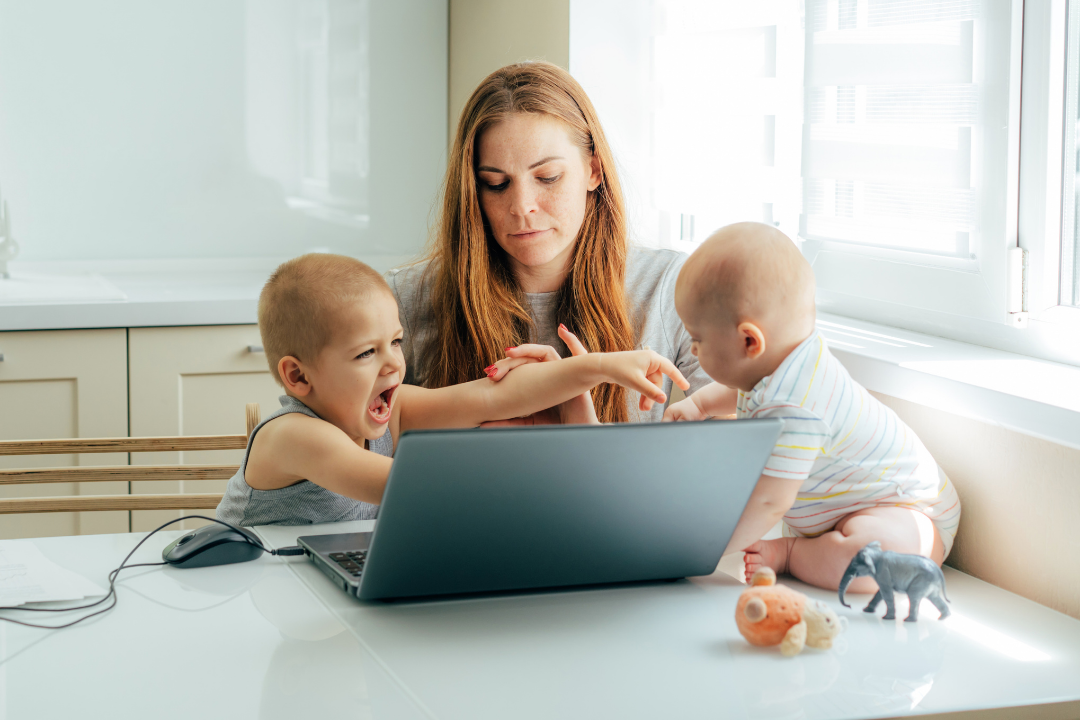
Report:
M 0 439 L 127 435 L 126 330 L 0 332 Z M 125 465 L 127 453 L 0 457 L 0 467 Z M 2 498 L 126 494 L 126 483 L 0 487 Z M 127 513 L 0 515 L 0 539 L 127 532 Z

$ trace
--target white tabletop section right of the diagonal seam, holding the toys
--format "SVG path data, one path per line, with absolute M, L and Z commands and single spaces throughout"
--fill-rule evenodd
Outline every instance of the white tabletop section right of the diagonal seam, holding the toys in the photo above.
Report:
M 373 525 L 258 530 L 284 546 Z M 1023 717 L 1080 717 L 1080 621 L 951 569 L 953 616 L 936 620 L 927 602 L 916 624 L 863 613 L 867 596 L 850 595 L 847 610 L 783 579 L 849 621 L 833 650 L 786 658 L 739 635 L 745 586 L 721 572 L 391 604 L 345 595 L 303 558 L 289 567 L 432 718 L 991 717 L 977 711 L 1034 705 Z

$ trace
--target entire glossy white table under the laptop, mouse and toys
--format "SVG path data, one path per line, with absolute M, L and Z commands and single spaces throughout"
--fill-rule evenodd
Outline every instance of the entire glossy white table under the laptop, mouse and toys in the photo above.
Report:
M 284 546 L 370 526 L 258 531 Z M 137 559 L 177 533 L 161 534 Z M 36 543 L 104 584 L 138 538 Z M 885 622 L 860 612 L 865 596 L 842 610 L 799 586 L 850 625 L 795 658 L 742 640 L 742 586 L 723 573 L 387 604 L 305 558 L 130 572 L 118 608 L 84 626 L 0 624 L 0 718 L 1080 717 L 1080 621 L 956 571 L 944 623 L 929 606 L 916 625 Z

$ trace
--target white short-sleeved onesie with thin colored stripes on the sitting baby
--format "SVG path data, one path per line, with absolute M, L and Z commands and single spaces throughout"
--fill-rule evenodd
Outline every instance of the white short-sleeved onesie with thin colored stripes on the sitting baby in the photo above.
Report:
M 784 431 L 764 475 L 802 480 L 784 534 L 813 538 L 877 505 L 913 507 L 933 520 L 948 556 L 960 522 L 956 489 L 912 429 L 851 379 L 814 332 L 754 389 L 739 418 L 778 418 Z

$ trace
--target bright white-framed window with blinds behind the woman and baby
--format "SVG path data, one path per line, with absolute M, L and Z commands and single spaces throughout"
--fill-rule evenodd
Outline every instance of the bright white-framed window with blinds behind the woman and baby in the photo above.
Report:
M 823 310 L 1080 363 L 1078 17 L 1066 73 L 1065 0 L 576 0 L 570 70 L 640 242 L 771 222 Z

